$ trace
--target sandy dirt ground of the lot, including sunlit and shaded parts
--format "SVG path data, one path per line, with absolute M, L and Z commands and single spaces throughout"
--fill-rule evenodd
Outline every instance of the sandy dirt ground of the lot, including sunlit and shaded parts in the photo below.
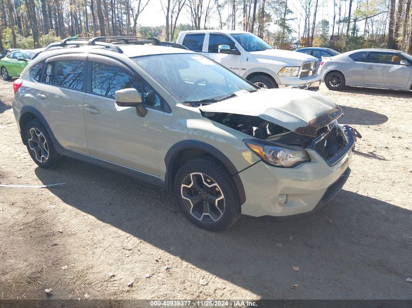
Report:
M 12 88 L 0 81 L 0 183 L 65 184 L 0 187 L 2 299 L 412 299 L 411 92 L 322 85 L 364 137 L 343 190 L 312 217 L 210 233 L 160 188 L 73 159 L 38 168 Z

